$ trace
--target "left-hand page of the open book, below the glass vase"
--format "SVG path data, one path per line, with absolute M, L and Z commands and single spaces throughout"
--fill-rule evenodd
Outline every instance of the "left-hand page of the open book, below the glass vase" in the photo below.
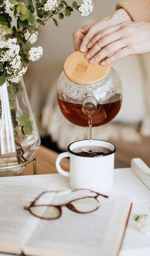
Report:
M 0 252 L 22 253 L 22 245 L 40 220 L 23 207 L 51 188 L 46 184 L 0 181 Z

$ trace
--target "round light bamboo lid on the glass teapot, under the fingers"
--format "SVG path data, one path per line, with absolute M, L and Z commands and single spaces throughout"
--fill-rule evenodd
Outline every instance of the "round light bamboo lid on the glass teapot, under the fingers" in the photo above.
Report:
M 101 66 L 99 61 L 97 64 L 90 64 L 85 59 L 87 52 L 74 52 L 64 63 L 65 75 L 77 84 L 94 84 L 103 80 L 110 72 L 111 66 Z

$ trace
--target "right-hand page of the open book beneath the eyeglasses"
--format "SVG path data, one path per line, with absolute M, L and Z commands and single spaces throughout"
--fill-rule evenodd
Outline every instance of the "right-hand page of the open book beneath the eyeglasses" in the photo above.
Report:
M 71 195 L 63 196 L 66 203 Z M 27 244 L 25 255 L 77 256 L 117 255 L 125 229 L 130 203 L 128 198 L 99 197 L 100 207 L 81 214 L 66 207 L 55 220 L 41 220 Z M 63 203 L 64 203 L 63 202 Z M 53 198 L 53 204 L 60 203 Z M 62 202 L 61 202 L 62 203 Z

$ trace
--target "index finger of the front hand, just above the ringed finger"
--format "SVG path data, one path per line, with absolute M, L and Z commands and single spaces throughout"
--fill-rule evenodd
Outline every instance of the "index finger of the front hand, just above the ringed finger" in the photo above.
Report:
M 92 48 L 101 38 L 103 38 L 104 36 L 112 32 L 117 31 L 120 27 L 121 27 L 121 24 L 103 29 L 93 39 L 91 39 L 91 41 L 87 45 L 87 48 Z

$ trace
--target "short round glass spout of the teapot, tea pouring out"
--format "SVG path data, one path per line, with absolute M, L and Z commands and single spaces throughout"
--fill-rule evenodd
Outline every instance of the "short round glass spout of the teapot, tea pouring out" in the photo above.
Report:
M 82 112 L 88 117 L 94 115 L 99 108 L 100 104 L 98 104 L 97 100 L 91 96 L 85 97 L 81 104 Z

